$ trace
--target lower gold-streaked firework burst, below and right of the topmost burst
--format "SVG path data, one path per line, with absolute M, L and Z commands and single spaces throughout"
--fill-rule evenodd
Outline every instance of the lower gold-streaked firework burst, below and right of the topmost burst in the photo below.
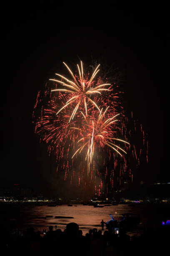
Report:
M 115 138 L 116 133 L 116 122 L 118 121 L 115 119 L 118 115 L 106 115 L 107 110 L 109 107 L 106 108 L 104 112 L 102 110 L 98 114 L 97 118 L 95 118 L 95 115 L 93 117 L 86 117 L 83 113 L 82 116 L 84 117 L 84 125 L 82 126 L 82 129 L 71 127 L 70 129 L 78 129 L 81 134 L 81 138 L 77 141 L 77 143 L 81 143 L 82 145 L 75 151 L 72 158 L 77 154 L 81 153 L 83 148 L 86 147 L 86 156 L 85 160 L 88 162 L 88 173 L 90 172 L 90 164 L 92 164 L 92 158 L 94 156 L 94 151 L 97 148 L 104 148 L 105 146 L 109 146 L 114 151 L 116 151 L 120 156 L 122 154 L 121 151 L 126 154 L 126 151 L 120 146 L 116 145 L 115 141 L 121 141 L 123 143 L 129 143 L 127 141 L 123 141 L 119 138 Z

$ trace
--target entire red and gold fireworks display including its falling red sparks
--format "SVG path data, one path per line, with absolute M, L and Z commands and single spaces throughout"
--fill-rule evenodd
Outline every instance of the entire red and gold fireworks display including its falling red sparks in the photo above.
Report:
M 92 182 L 95 194 L 133 182 L 140 163 L 148 164 L 147 134 L 140 121 L 125 116 L 122 93 L 116 82 L 77 64 L 73 73 L 55 74 L 37 94 L 32 117 L 40 142 L 56 157 L 56 172 L 77 186 Z M 138 138 L 138 140 L 137 140 Z

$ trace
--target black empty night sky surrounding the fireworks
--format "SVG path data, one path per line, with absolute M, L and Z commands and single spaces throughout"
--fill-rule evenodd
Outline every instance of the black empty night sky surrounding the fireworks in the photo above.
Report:
M 112 7 L 13 3 L 1 10 L 0 184 L 9 182 L 60 190 L 54 157 L 34 133 L 32 110 L 38 90 L 62 61 L 90 64 L 105 59 L 120 67 L 129 110 L 148 132 L 149 168 L 145 179 L 170 182 L 168 151 L 169 18 L 168 6 L 117 2 Z M 102 66 L 102 63 L 100 63 Z M 63 71 L 62 71 L 63 70 Z M 140 179 L 140 178 L 139 178 Z M 67 187 L 65 186 L 65 189 Z

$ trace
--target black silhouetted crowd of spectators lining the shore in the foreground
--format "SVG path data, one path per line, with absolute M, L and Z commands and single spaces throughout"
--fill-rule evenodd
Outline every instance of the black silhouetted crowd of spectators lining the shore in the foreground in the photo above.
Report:
M 1 255 L 18 256 L 57 256 L 57 255 L 82 255 L 82 256 L 124 256 L 124 255 L 159 255 L 169 249 L 170 226 L 160 226 L 157 229 L 150 226 L 143 230 L 143 235 L 131 237 L 125 230 L 120 230 L 118 235 L 114 230 L 94 228 L 85 236 L 76 223 L 68 223 L 65 230 L 49 231 L 41 237 L 40 232 L 29 228 L 22 234 L 11 223 L 10 230 L 3 230 L 0 234 Z

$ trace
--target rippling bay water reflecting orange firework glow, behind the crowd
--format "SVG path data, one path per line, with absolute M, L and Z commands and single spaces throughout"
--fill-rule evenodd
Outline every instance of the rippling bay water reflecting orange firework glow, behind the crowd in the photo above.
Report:
M 27 228 L 33 227 L 35 231 L 40 230 L 42 232 L 43 228 L 48 230 L 49 225 L 52 225 L 55 229 L 60 228 L 64 230 L 67 223 L 75 222 L 79 225 L 82 230 L 83 235 L 88 232 L 89 229 L 96 227 L 100 229 L 100 222 L 104 220 L 110 220 L 110 214 L 114 217 L 120 217 L 124 213 L 134 213 L 139 215 L 140 206 L 128 207 L 128 205 L 115 205 L 115 206 L 105 206 L 102 208 L 95 208 L 89 205 L 77 205 L 77 207 L 68 207 L 67 205 L 47 207 L 43 206 L 32 206 L 32 205 L 4 205 L 1 208 L 0 213 L 0 223 L 3 225 L 8 225 L 9 220 L 15 220 L 17 227 L 25 233 Z M 38 217 L 46 217 L 47 215 L 52 215 L 52 218 L 37 219 Z M 72 219 L 55 219 L 55 216 L 69 216 Z M 104 228 L 105 230 L 106 228 Z M 142 223 L 139 228 L 128 232 L 130 236 L 140 235 L 142 232 Z

